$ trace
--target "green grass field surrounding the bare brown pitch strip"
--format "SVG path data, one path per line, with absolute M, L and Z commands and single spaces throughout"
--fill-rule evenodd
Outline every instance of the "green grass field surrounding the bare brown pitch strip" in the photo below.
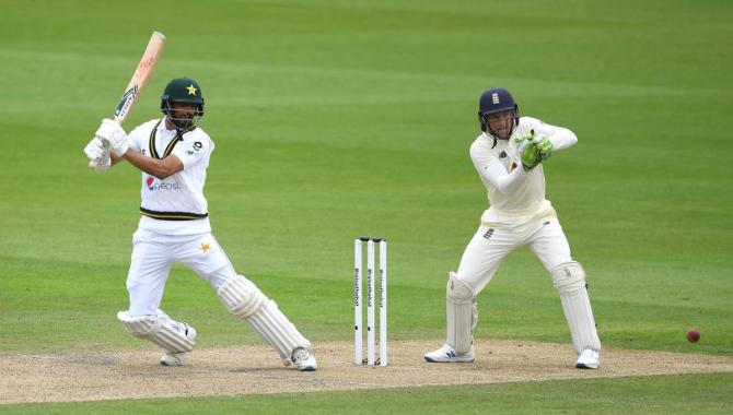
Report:
M 579 137 L 547 162 L 547 197 L 589 274 L 604 345 L 733 354 L 726 1 L 0 5 L 0 354 L 150 348 L 115 318 L 127 307 L 139 174 L 129 165 L 94 174 L 82 149 L 112 115 L 154 29 L 167 36 L 166 50 L 126 127 L 159 116 L 170 79 L 199 81 L 203 128 L 217 143 L 207 181 L 214 234 L 312 341 L 352 336 L 351 247 L 362 234 L 391 241 L 391 336 L 443 335 L 447 272 L 487 205 L 468 158 L 478 96 L 502 85 L 523 114 Z M 557 293 L 527 250 L 504 261 L 478 301 L 479 337 L 569 342 Z M 163 308 L 207 333 L 201 347 L 257 342 L 183 268 L 168 280 Z M 685 341 L 689 327 L 700 329 L 699 343 Z M 612 413 L 730 412 L 732 380 L 551 381 L 461 394 L 465 412 L 491 402 L 512 413 L 580 411 L 573 400 Z M 569 384 L 586 395 L 568 393 Z M 458 391 L 179 401 L 197 412 L 267 412 L 293 398 L 303 412 L 345 412 L 354 400 L 364 412 L 432 412 L 455 410 L 449 393 Z M 544 400 L 548 406 L 537 406 Z

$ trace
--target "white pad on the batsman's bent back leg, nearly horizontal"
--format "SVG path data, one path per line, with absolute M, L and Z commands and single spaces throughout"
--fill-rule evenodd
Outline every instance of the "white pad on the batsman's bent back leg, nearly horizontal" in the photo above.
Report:
M 190 352 L 196 345 L 196 330 L 186 323 L 156 315 L 131 317 L 127 311 L 119 311 L 117 319 L 130 334 L 147 339 L 168 352 Z

